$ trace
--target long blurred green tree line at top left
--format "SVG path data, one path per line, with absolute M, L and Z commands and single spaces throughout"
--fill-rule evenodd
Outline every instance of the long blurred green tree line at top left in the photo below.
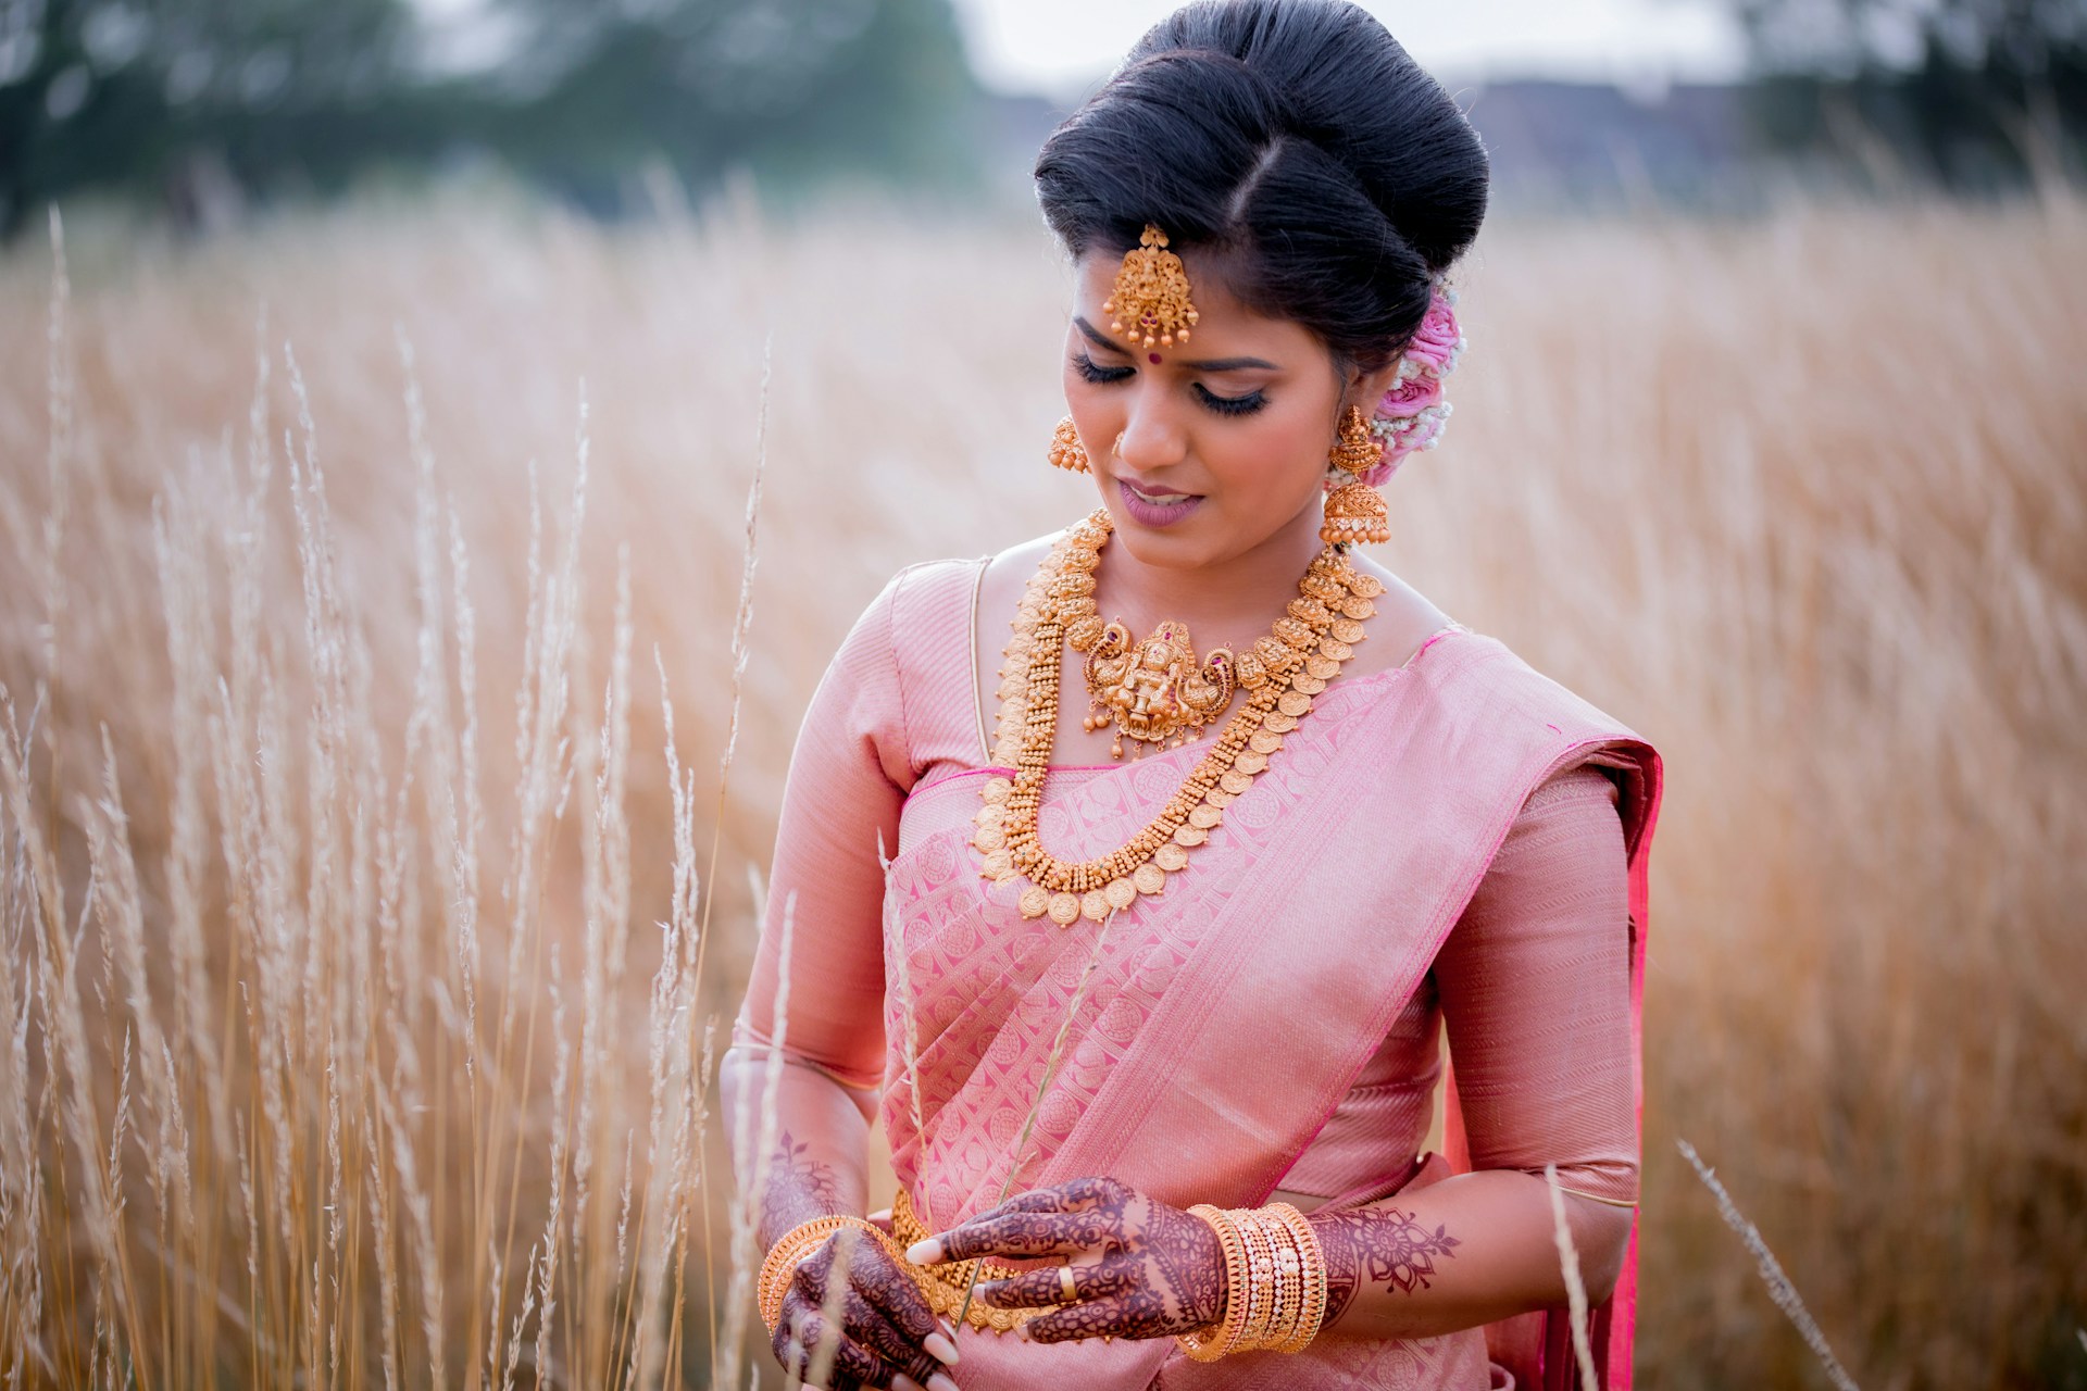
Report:
M 447 10 L 447 13 L 445 13 Z M 703 190 L 964 179 L 950 0 L 0 0 L 0 236 L 102 188 L 175 221 L 490 158 L 614 215 Z

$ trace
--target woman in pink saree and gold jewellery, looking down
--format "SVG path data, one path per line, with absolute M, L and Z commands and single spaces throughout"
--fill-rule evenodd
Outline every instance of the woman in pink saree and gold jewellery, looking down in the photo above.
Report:
M 1077 275 L 1052 461 L 1100 505 L 902 571 L 806 717 L 724 1066 L 776 1356 L 1567 1385 L 1555 1170 L 1624 1385 L 1659 763 L 1352 544 L 1446 415 L 1484 152 L 1363 10 L 1223 0 L 1037 190 Z M 1417 1153 L 1438 1026 L 1455 1164 Z

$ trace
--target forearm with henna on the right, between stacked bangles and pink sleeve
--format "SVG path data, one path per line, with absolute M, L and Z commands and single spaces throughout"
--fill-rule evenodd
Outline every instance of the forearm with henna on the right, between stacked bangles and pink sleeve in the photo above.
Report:
M 1622 1270 L 1632 1210 L 1565 1195 L 1588 1297 Z M 1306 1214 L 1327 1262 L 1321 1337 L 1417 1339 L 1563 1305 L 1542 1178 L 1484 1170 L 1367 1207 Z

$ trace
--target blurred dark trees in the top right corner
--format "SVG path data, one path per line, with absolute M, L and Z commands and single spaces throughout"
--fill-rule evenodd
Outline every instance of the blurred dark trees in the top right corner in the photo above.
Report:
M 2087 0 L 1730 0 L 1772 154 L 1872 186 L 2081 177 Z

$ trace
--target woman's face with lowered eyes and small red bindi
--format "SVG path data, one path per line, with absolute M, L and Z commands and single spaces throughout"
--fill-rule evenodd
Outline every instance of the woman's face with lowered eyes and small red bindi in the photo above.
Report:
M 1375 377 L 1336 377 L 1325 344 L 1231 296 L 1206 261 L 1181 257 L 1198 321 L 1190 342 L 1144 348 L 1110 334 L 1102 302 L 1121 257 L 1077 265 L 1064 398 L 1117 536 L 1150 565 L 1198 567 L 1271 540 L 1317 544 L 1327 450 L 1346 400 Z M 1384 386 L 1373 388 L 1382 394 Z

